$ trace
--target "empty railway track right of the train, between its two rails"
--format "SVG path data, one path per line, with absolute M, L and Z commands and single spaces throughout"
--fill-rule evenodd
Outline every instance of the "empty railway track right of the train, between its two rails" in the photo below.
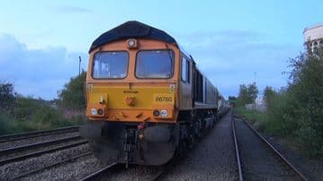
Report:
M 244 119 L 238 118 L 238 120 L 241 120 L 238 122 L 239 128 L 244 132 L 237 134 L 236 121 L 232 117 L 232 136 L 235 142 L 238 179 L 240 181 L 268 177 L 271 179 L 307 180 L 290 161 L 285 159 L 270 142 L 265 140 L 264 136 L 259 134 Z M 256 139 L 259 142 L 258 144 L 257 142 L 250 142 L 256 141 Z

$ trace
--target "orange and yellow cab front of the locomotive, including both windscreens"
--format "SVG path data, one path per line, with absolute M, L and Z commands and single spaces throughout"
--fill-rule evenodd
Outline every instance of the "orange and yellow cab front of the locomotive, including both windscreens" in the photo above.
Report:
M 118 40 L 94 49 L 86 77 L 86 116 L 175 123 L 178 60 L 178 48 L 150 39 Z

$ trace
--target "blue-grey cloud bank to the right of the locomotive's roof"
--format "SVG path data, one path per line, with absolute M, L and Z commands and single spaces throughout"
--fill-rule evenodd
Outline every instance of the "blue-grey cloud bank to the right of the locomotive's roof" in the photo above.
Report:
M 239 84 L 256 81 L 262 93 L 266 85 L 286 85 L 287 60 L 297 56 L 302 45 L 272 42 L 260 33 L 245 30 L 196 32 L 180 41 L 197 66 L 225 96 L 238 95 Z

